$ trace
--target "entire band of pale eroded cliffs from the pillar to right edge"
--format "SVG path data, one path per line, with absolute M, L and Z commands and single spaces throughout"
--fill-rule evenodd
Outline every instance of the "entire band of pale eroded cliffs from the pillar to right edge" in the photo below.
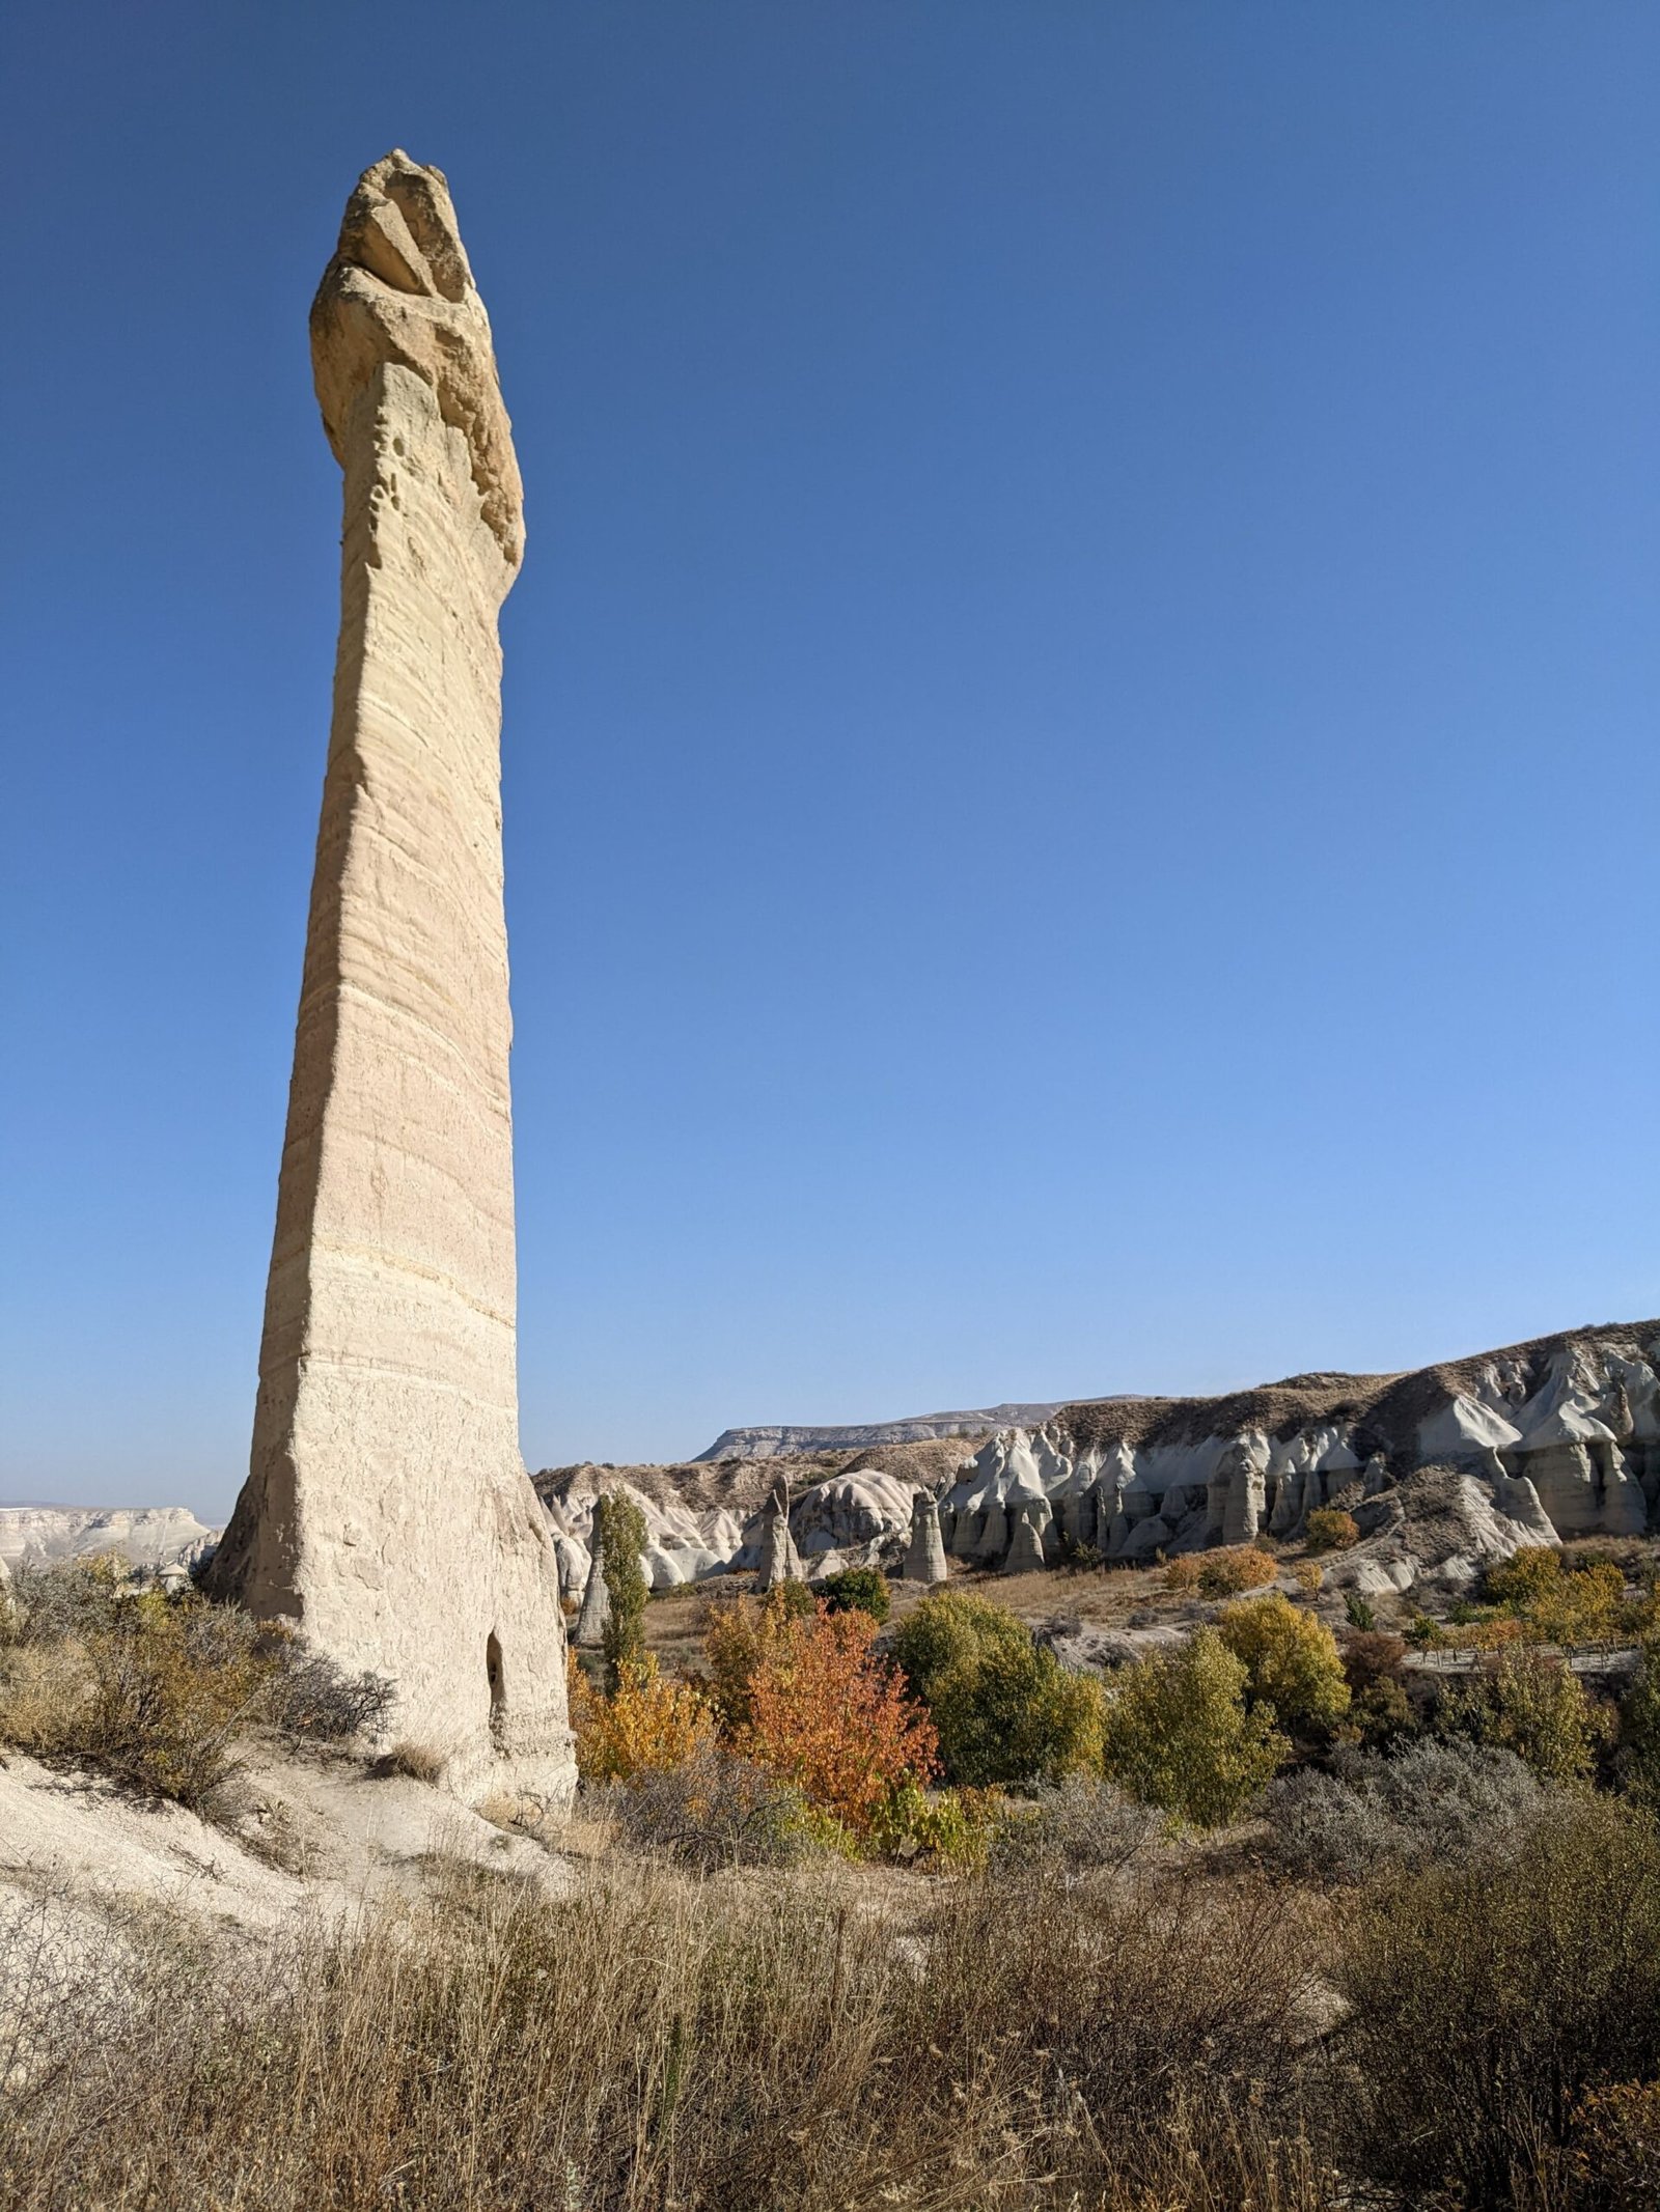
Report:
M 719 1469 L 538 1475 L 571 1562 L 567 1586 L 578 1562 L 587 1573 L 591 1500 L 613 1482 L 646 1509 L 657 1588 L 757 1566 L 775 1471 L 768 1453 Z M 790 1531 L 808 1573 L 896 1571 L 919 1491 L 936 1498 L 954 1559 L 1007 1573 L 1080 1553 L 1135 1562 L 1259 1533 L 1295 1540 L 1310 1511 L 1341 1504 L 1363 1540 L 1332 1562 L 1332 1582 L 1459 1584 L 1518 1544 L 1660 1528 L 1660 1321 L 1567 1329 L 1410 1374 L 1098 1398 L 1009 1422 L 969 1458 L 950 1438 L 839 1464 L 803 1458 Z

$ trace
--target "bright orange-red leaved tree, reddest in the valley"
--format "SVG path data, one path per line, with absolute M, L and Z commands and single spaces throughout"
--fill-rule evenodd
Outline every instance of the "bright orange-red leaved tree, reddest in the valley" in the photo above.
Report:
M 854 1836 L 905 1783 L 938 1772 L 938 1739 L 905 1679 L 870 1646 L 868 1613 L 790 1615 L 781 1606 L 710 1628 L 717 1703 L 733 1743 Z

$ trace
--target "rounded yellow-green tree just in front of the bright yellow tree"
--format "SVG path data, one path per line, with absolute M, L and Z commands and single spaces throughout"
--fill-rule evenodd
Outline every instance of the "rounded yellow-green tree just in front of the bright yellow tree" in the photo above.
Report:
M 1290 1745 L 1273 1708 L 1246 1705 L 1246 1668 L 1215 1628 L 1127 1670 L 1107 1705 L 1102 1770 L 1195 1827 L 1237 1820 Z

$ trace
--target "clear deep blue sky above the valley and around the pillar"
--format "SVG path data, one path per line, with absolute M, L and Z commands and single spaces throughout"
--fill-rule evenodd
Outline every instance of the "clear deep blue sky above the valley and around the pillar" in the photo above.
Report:
M 527 480 L 533 1467 L 1660 1307 L 1651 0 L 4 42 L 4 1495 L 243 1473 L 392 144 Z

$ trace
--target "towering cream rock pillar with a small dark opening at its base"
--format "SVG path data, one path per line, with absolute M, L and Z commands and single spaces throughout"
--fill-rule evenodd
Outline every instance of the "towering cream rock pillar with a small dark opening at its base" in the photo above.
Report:
M 403 153 L 312 305 L 341 639 L 252 1467 L 212 1586 L 396 1688 L 465 1796 L 573 1787 L 518 1449 L 496 615 L 520 480 L 449 190 Z

